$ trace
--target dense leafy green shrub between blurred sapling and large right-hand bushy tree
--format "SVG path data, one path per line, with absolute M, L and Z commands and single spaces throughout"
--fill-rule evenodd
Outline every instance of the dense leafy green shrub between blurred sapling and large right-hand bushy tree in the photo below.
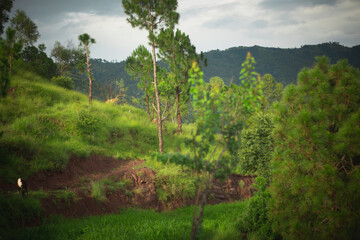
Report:
M 273 124 L 269 113 L 255 113 L 249 127 L 241 131 L 239 171 L 270 178 L 270 159 L 273 152 Z

